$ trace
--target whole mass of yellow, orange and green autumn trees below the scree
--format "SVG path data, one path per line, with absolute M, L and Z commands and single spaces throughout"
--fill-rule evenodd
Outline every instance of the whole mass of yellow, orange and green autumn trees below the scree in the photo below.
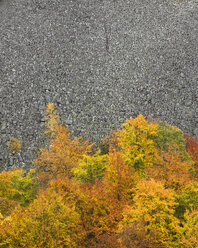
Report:
M 33 175 L 0 173 L 0 247 L 196 247 L 197 210 L 186 211 L 197 206 L 191 136 L 194 163 L 180 129 L 139 115 L 93 154 L 60 125 L 53 103 L 45 121 L 49 147 L 34 160 L 40 193 Z

